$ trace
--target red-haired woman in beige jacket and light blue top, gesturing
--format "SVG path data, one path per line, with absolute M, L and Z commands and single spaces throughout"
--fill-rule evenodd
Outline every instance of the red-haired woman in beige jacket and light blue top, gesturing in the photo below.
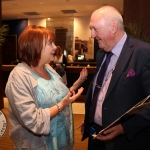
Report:
M 31 25 L 18 40 L 22 63 L 10 73 L 5 89 L 10 104 L 10 137 L 17 150 L 71 150 L 73 147 L 71 103 L 83 92 L 79 86 L 87 77 L 87 70 L 81 71 L 69 91 L 48 65 L 56 50 L 54 37 L 47 28 Z

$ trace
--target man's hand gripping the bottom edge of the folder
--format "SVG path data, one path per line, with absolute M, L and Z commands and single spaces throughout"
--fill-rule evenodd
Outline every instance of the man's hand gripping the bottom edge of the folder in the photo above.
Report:
M 105 130 L 98 136 L 96 136 L 96 135 L 92 135 L 92 136 L 96 137 L 96 139 L 101 140 L 101 141 L 109 141 L 109 140 L 112 140 L 115 137 L 117 137 L 119 134 L 124 134 L 124 130 L 123 130 L 123 127 L 121 124 L 117 124 L 109 129 Z

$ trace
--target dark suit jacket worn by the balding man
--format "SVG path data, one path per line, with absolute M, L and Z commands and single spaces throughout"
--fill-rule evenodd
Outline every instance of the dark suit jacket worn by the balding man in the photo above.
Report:
M 103 50 L 97 52 L 95 75 L 104 54 Z M 129 69 L 134 70 L 134 77 L 127 77 Z M 150 44 L 127 36 L 102 105 L 103 128 L 148 95 L 150 95 Z M 91 100 L 92 84 L 90 83 L 85 101 L 85 132 L 82 140 L 88 137 Z M 143 150 L 146 142 L 149 142 L 150 150 L 150 107 L 141 109 L 121 124 L 125 134 L 105 142 L 107 150 Z

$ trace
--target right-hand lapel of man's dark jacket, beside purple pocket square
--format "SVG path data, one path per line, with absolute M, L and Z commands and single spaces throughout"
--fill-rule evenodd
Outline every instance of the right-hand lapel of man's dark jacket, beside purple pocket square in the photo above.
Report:
M 127 62 L 129 61 L 130 57 L 132 56 L 134 49 L 133 49 L 133 44 L 130 41 L 130 37 L 127 37 L 127 40 L 123 46 L 123 49 L 120 53 L 119 59 L 117 61 L 115 70 L 113 71 L 112 79 L 109 84 L 109 88 L 107 90 L 106 97 L 110 94 L 112 89 L 114 88 L 115 84 L 119 80 L 119 77 L 121 76 Z

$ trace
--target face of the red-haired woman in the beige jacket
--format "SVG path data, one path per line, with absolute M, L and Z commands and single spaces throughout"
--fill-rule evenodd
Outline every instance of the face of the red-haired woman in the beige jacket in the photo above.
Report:
M 43 64 L 53 61 L 56 49 L 57 48 L 53 42 L 47 42 L 46 45 L 43 46 L 40 61 L 42 61 Z

